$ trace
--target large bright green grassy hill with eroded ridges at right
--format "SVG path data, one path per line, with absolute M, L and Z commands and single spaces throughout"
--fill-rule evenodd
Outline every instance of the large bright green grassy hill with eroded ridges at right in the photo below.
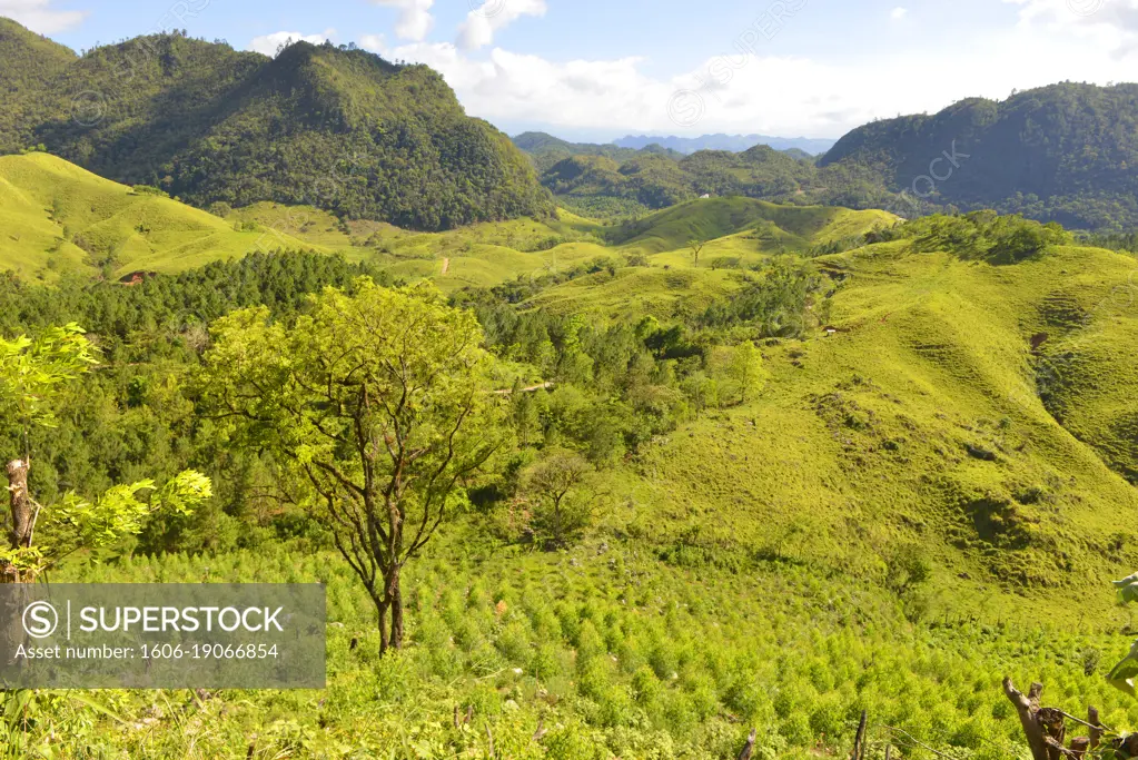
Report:
M 822 264 L 849 278 L 834 297 L 838 332 L 770 341 L 761 400 L 654 447 L 636 488 L 655 506 L 640 529 L 694 535 L 709 556 L 736 550 L 864 577 L 920 545 L 949 609 L 1104 614 L 1106 583 L 1138 562 L 1138 493 L 1124 479 L 1133 419 L 1121 400 L 1138 382 L 1138 319 L 1096 305 L 1128 282 L 1133 258 L 1064 248 L 996 267 L 888 243 Z M 1069 358 L 1053 358 L 1063 390 L 1045 403 L 1031 337 L 1059 294 L 1090 316 L 1054 348 Z

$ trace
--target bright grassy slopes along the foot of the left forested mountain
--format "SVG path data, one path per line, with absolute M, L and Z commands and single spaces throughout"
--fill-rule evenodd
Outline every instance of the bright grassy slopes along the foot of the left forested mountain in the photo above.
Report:
M 439 276 L 445 290 L 488 287 L 603 255 L 601 228 L 570 212 L 444 233 L 340 222 L 308 206 L 258 203 L 224 218 L 140 195 L 48 154 L 0 157 L 0 264 L 24 278 L 65 272 L 112 276 L 181 272 L 251 250 L 312 249 L 373 259 L 407 279 Z M 448 259 L 447 276 L 440 276 Z

